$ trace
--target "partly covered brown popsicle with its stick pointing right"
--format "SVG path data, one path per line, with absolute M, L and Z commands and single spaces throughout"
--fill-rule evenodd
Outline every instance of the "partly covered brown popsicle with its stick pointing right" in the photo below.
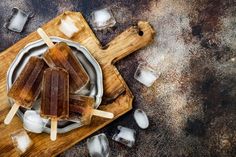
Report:
M 84 125 L 91 122 L 92 116 L 112 119 L 113 113 L 94 109 L 94 99 L 88 96 L 80 96 L 76 94 L 70 95 L 70 116 L 69 120 L 80 121 Z

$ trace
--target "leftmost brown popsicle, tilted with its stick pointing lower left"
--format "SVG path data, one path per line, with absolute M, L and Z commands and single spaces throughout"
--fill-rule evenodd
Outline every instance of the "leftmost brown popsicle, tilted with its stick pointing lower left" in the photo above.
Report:
M 32 107 L 40 93 L 43 71 L 47 67 L 41 58 L 31 57 L 29 59 L 8 92 L 8 96 L 15 101 L 15 104 L 5 118 L 5 124 L 11 122 L 20 106 L 27 109 Z

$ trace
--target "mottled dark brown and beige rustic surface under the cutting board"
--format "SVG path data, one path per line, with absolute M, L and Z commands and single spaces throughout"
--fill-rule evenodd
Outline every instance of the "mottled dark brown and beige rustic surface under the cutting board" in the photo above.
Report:
M 1 21 L 13 7 L 35 16 L 20 34 L 2 28 L 1 22 L 0 50 L 66 10 L 81 11 L 90 23 L 93 10 L 111 7 L 116 26 L 95 31 L 103 44 L 138 20 L 153 25 L 155 42 L 117 64 L 135 96 L 134 109 L 146 111 L 150 127 L 139 129 L 131 111 L 97 132 L 108 136 L 111 156 L 235 156 L 235 0 L 2 0 Z M 161 72 L 151 88 L 133 79 L 141 62 Z M 117 125 L 137 131 L 133 148 L 111 140 Z M 86 140 L 60 156 L 88 156 Z

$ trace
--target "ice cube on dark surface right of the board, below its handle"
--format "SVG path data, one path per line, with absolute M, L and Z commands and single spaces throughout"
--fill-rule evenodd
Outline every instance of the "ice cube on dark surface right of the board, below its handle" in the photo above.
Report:
M 145 64 L 139 64 L 134 74 L 134 78 L 147 87 L 152 86 L 159 76 L 160 73 L 155 72 L 153 68 Z

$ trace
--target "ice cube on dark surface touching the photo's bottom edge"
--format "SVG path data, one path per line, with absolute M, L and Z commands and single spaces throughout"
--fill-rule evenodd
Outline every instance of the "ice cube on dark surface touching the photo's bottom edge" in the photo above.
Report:
M 87 139 L 87 147 L 91 157 L 108 157 L 110 153 L 109 142 L 104 133 Z

